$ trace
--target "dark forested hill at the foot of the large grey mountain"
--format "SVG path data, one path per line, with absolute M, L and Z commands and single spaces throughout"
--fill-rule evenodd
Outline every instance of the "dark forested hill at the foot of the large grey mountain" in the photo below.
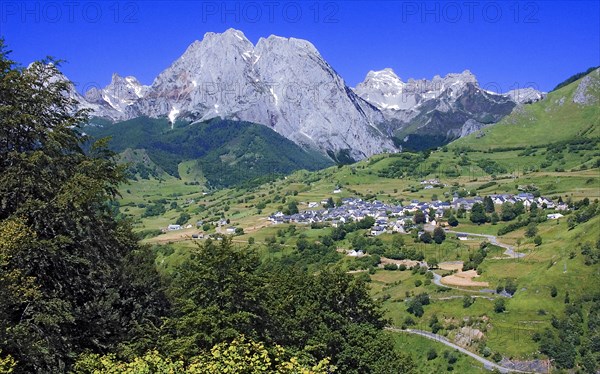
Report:
M 133 174 L 141 171 L 156 178 L 159 172 L 148 173 L 146 169 L 160 169 L 177 178 L 205 181 L 213 188 L 332 164 L 325 156 L 305 151 L 275 131 L 248 122 L 214 119 L 172 126 L 166 119 L 140 117 L 84 130 L 93 138 L 111 137 L 109 147 L 126 152 L 123 158 L 133 163 Z M 143 150 L 147 156 L 143 163 L 131 157 L 133 149 Z

